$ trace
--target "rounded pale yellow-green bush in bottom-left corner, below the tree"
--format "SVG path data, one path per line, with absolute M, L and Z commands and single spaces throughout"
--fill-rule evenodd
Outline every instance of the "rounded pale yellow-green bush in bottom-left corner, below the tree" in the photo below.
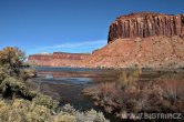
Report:
M 50 122 L 50 110 L 23 99 L 17 99 L 8 104 L 0 101 L 1 122 Z

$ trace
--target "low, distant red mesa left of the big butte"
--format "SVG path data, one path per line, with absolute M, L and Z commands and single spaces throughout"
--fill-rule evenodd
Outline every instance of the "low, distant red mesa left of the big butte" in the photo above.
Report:
M 54 52 L 53 54 L 29 55 L 28 62 L 35 65 L 48 67 L 78 67 L 79 62 L 90 57 L 88 53 Z

